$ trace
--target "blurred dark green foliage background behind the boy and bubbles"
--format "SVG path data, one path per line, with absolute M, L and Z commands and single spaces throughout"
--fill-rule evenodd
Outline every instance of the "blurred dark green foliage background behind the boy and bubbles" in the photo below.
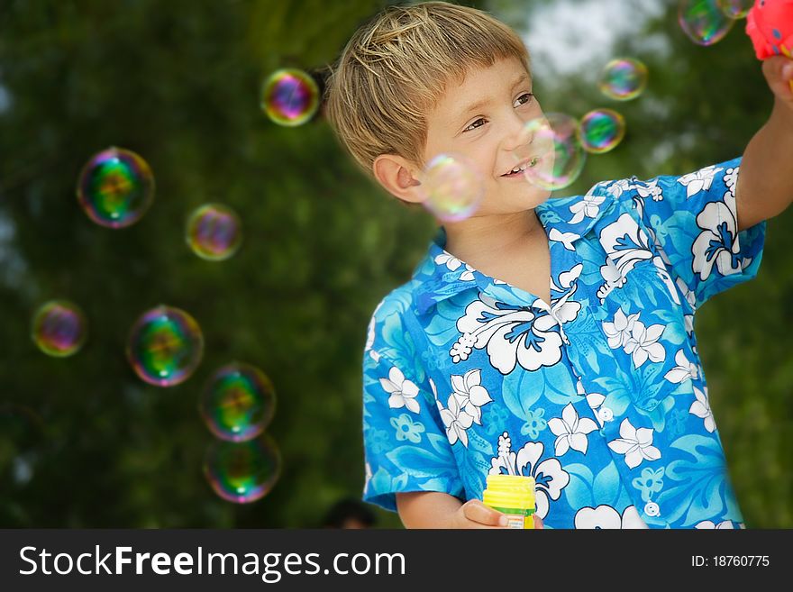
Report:
M 473 5 L 524 31 L 549 2 Z M 433 221 L 364 178 L 321 117 L 278 127 L 258 94 L 276 68 L 333 62 L 387 4 L 0 1 L 0 526 L 315 526 L 336 499 L 360 495 L 369 316 L 409 278 Z M 650 68 L 639 100 L 599 95 L 602 63 L 536 81 L 546 111 L 610 106 L 627 121 L 624 142 L 590 157 L 565 195 L 733 158 L 768 117 L 743 22 L 701 48 L 680 31 L 676 3 L 663 5 L 615 47 Z M 648 49 L 649 35 L 668 51 Z M 91 223 L 75 199 L 80 168 L 111 145 L 140 153 L 157 179 L 150 211 L 121 230 Z M 199 260 L 183 238 L 187 214 L 209 201 L 242 216 L 242 249 L 223 263 Z M 791 215 L 770 222 L 760 276 L 697 315 L 750 527 L 793 527 Z M 52 298 L 88 317 L 85 348 L 65 360 L 30 338 L 33 312 Z M 178 387 L 146 385 L 124 358 L 132 323 L 160 303 L 205 334 L 204 360 Z M 278 393 L 269 433 L 283 471 L 251 505 L 215 496 L 201 469 L 213 437 L 198 395 L 231 360 L 264 370 Z

